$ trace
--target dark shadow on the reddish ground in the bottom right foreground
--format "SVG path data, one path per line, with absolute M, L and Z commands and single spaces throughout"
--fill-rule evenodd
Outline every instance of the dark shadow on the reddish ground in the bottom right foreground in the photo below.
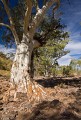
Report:
M 43 101 L 34 108 L 27 120 L 81 120 L 59 100 Z

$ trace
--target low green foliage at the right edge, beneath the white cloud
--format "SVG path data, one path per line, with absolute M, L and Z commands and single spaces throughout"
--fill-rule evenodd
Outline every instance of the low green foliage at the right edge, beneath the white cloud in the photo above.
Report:
M 81 59 L 73 59 L 68 66 L 60 66 L 58 68 L 58 75 L 65 77 L 81 76 Z

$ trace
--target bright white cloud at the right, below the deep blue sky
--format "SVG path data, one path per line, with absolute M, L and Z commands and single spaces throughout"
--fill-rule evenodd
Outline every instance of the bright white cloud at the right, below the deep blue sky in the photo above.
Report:
M 72 59 L 81 57 L 81 42 L 71 41 L 66 45 L 65 50 L 69 50 L 70 53 L 58 60 L 59 65 L 69 65 Z

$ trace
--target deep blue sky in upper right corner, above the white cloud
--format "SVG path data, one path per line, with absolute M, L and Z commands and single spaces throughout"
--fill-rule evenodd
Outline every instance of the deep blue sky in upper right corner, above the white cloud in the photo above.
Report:
M 79 38 L 81 32 L 81 0 L 72 0 L 71 5 L 64 1 L 63 3 L 64 5 L 61 6 L 62 11 L 64 11 L 61 16 L 62 22 L 67 25 L 66 30 L 71 33 L 70 36 L 76 35 Z

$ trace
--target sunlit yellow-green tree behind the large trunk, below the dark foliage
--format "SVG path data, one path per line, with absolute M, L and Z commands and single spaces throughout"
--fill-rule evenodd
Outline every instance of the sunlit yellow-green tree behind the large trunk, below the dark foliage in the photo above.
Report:
M 64 51 L 64 47 L 68 43 L 67 38 L 66 40 L 62 38 L 58 41 L 58 39 L 56 41 L 49 39 L 44 46 L 36 50 L 37 53 L 34 58 L 36 73 L 39 72 L 40 75 L 52 75 L 56 66 L 58 66 L 57 60 L 68 53 L 68 51 Z

